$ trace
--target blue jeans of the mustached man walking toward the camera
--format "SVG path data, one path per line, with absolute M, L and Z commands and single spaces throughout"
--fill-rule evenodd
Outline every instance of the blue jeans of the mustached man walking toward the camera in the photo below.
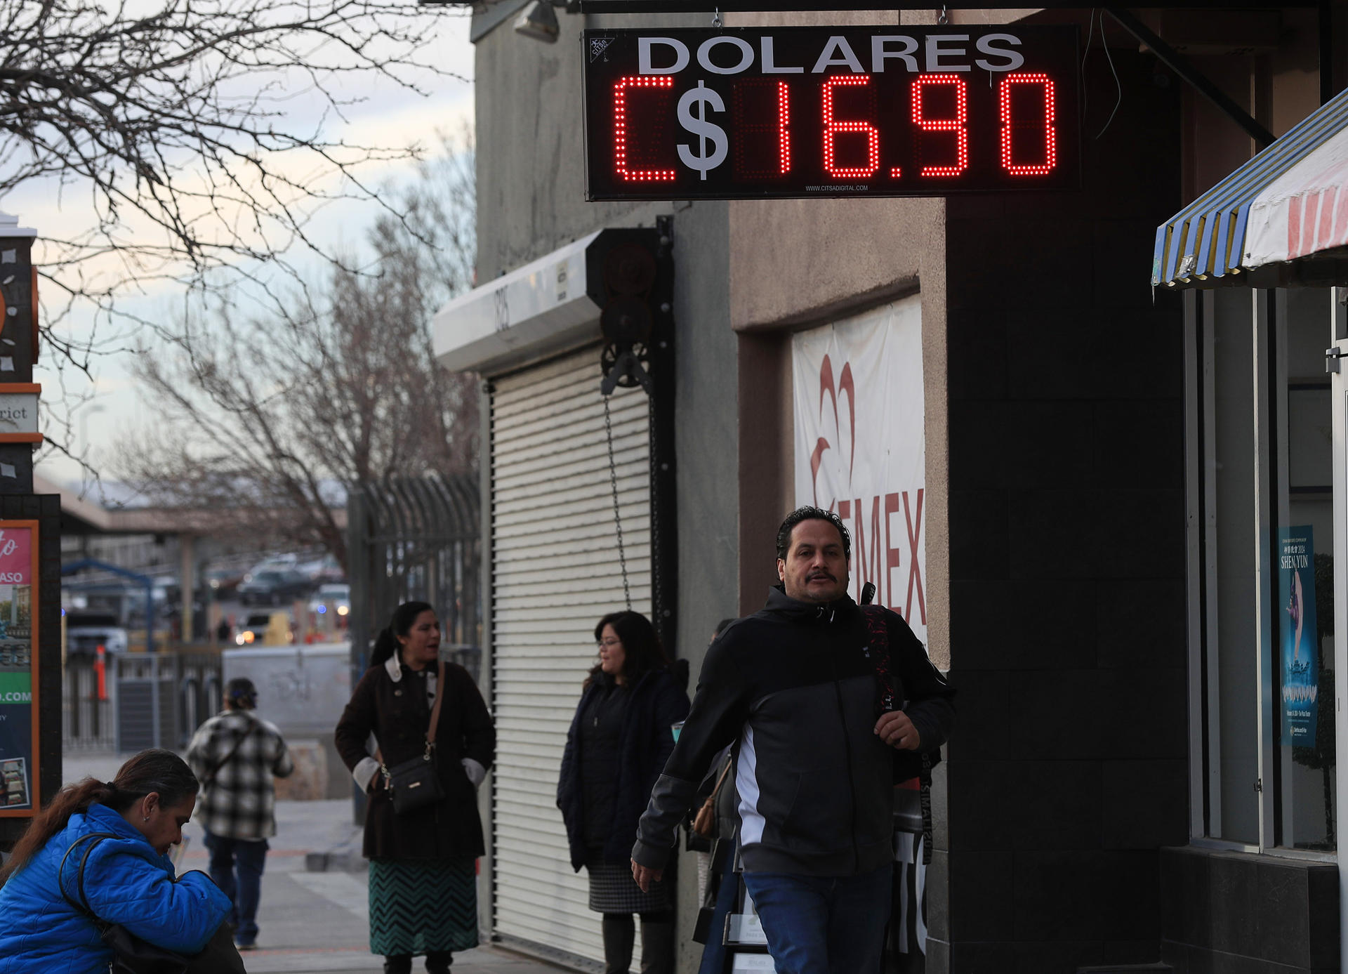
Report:
M 744 873 L 776 974 L 880 974 L 892 877 Z

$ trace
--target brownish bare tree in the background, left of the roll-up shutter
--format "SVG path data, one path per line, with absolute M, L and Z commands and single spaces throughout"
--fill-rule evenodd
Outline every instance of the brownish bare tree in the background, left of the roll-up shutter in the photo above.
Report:
M 124 479 L 158 506 L 322 544 L 345 564 L 333 515 L 345 488 L 473 468 L 476 386 L 430 344 L 431 316 L 469 286 L 476 247 L 470 151 L 443 148 L 391 194 L 399 216 L 376 220 L 371 262 L 333 266 L 282 314 L 217 304 L 143 349 L 136 374 L 159 421 L 121 444 Z

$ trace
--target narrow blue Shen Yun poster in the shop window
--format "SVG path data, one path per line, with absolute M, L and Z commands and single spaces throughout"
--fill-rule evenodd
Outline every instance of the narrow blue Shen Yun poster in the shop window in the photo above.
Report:
M 1316 637 L 1316 544 L 1309 525 L 1281 532 L 1278 592 L 1282 606 L 1282 742 L 1313 747 L 1320 639 Z

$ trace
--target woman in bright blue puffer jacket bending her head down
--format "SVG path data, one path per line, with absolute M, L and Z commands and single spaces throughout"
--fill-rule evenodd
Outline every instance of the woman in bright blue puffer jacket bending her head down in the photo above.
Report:
M 94 916 L 179 954 L 198 954 L 229 913 L 229 897 L 205 873 L 174 876 L 168 847 L 197 804 L 197 777 L 173 751 L 148 750 L 112 781 L 62 788 L 34 819 L 0 870 L 0 974 L 102 974 L 112 961 L 93 921 L 61 894 L 80 901 L 78 871 Z M 93 846 L 92 851 L 89 847 Z M 85 858 L 85 853 L 89 853 Z

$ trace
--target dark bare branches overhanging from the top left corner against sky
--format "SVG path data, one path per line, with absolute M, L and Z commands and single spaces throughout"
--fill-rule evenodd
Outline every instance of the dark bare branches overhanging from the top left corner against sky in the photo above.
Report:
M 201 306 L 247 282 L 279 308 L 307 286 L 305 255 L 341 266 L 313 231 L 336 201 L 415 233 L 365 174 L 422 147 L 334 132 L 376 85 L 464 81 L 442 66 L 441 28 L 469 7 L 0 0 L 0 206 L 38 186 L 81 227 L 38 228 L 47 368 L 89 376 L 111 348 L 159 331 L 128 298 L 164 285 Z M 57 405 L 69 428 L 78 398 Z

